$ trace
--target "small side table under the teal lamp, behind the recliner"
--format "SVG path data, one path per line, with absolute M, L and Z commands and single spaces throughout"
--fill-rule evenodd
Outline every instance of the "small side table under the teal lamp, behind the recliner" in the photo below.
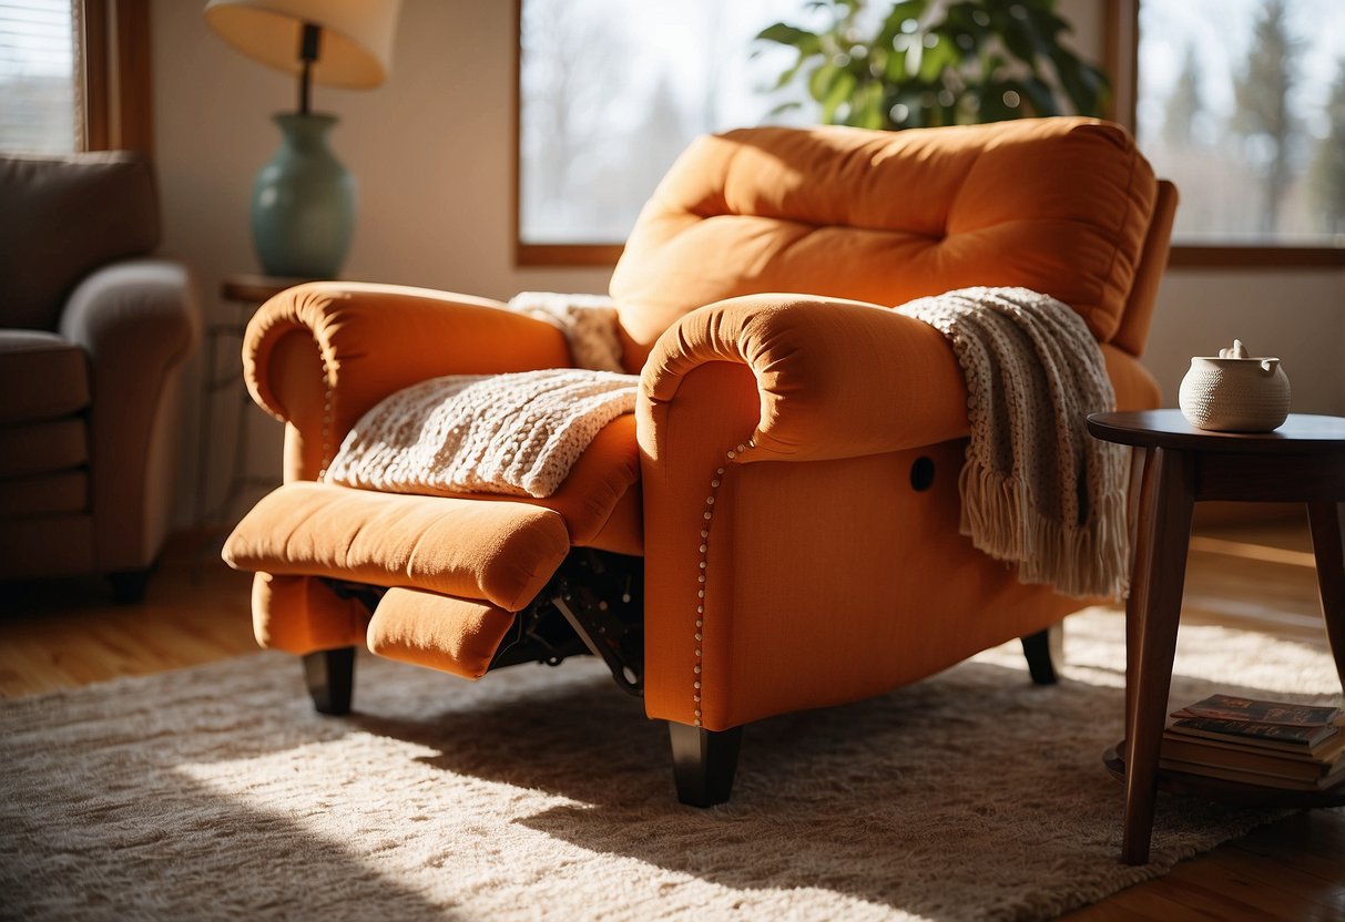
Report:
M 304 278 L 276 278 L 270 276 L 238 274 L 225 278 L 219 285 L 219 297 L 229 302 L 235 315 L 223 323 L 207 324 L 204 329 L 204 368 L 200 380 L 200 431 L 196 439 L 196 497 L 194 517 L 196 527 L 208 534 L 211 527 L 225 521 L 229 511 L 237 503 L 242 491 L 253 484 L 273 485 L 270 478 L 252 477 L 247 470 L 247 411 L 253 406 L 247 388 L 242 382 L 238 353 L 221 366 L 221 343 L 237 341 L 242 345 L 243 332 L 253 312 L 265 301 L 286 288 L 299 285 Z M 211 439 L 214 433 L 215 395 L 223 390 L 235 390 L 239 399 L 238 425 L 234 431 L 229 483 L 225 487 L 219 505 L 208 507 L 208 477 L 211 461 Z

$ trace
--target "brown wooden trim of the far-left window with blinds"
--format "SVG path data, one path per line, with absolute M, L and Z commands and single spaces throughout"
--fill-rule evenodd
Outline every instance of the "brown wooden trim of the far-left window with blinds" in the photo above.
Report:
M 149 0 L 78 0 L 85 151 L 153 155 Z

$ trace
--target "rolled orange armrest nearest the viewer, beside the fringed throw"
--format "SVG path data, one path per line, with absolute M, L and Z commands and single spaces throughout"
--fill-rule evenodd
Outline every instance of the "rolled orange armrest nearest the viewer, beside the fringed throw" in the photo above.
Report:
M 889 308 L 798 294 L 720 301 L 655 343 L 642 418 L 712 362 L 751 368 L 760 398 L 751 461 L 819 461 L 897 452 L 967 435 L 967 391 L 943 333 Z M 658 457 L 658 426 L 642 426 Z

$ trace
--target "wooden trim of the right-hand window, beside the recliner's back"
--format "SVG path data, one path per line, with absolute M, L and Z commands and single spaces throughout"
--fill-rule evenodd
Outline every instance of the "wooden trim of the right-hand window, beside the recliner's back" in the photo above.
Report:
M 1104 63 L 1114 81 L 1112 118 L 1131 133 L 1139 101 L 1141 1 L 1107 0 L 1106 5 Z M 1182 269 L 1332 269 L 1345 266 L 1345 247 L 1174 243 L 1167 265 Z

